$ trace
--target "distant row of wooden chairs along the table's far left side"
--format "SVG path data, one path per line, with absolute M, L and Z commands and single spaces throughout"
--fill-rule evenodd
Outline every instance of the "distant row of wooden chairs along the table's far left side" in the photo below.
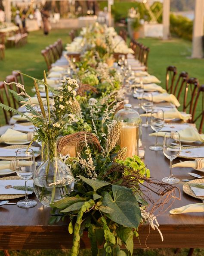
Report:
M 44 50 L 41 51 L 43 55 L 48 70 L 51 68 L 51 65 L 57 61 L 62 56 L 63 44 L 62 39 L 58 39 L 53 45 L 49 45 Z

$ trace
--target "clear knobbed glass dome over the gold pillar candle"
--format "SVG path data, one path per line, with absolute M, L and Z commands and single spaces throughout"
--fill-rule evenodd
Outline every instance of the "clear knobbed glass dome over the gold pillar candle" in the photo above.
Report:
M 131 104 L 125 104 L 124 109 L 120 109 L 114 115 L 114 119 L 117 121 L 123 121 L 124 123 L 134 123 L 139 126 L 139 147 L 142 145 L 142 119 L 139 113 L 132 109 Z

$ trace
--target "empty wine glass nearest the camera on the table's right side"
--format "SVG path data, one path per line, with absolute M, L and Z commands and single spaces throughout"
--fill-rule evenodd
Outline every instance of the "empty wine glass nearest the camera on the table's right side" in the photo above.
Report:
M 179 183 L 179 179 L 173 177 L 173 174 L 172 174 L 172 161 L 173 159 L 178 157 L 180 151 L 181 151 L 181 141 L 180 141 L 179 133 L 175 131 L 166 132 L 164 135 L 163 153 L 165 157 L 170 159 L 170 176 L 163 178 L 162 179 L 163 182 L 168 184 Z

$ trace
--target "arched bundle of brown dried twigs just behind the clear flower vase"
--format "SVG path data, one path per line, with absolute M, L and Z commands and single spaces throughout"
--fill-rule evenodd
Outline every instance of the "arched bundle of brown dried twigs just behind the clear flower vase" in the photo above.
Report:
M 58 152 L 64 154 L 67 150 L 66 148 L 77 147 L 77 151 L 80 152 L 86 145 L 85 136 L 88 144 L 96 147 L 96 150 L 100 152 L 101 145 L 99 143 L 96 135 L 88 131 L 79 131 L 73 134 L 63 136 L 58 143 Z

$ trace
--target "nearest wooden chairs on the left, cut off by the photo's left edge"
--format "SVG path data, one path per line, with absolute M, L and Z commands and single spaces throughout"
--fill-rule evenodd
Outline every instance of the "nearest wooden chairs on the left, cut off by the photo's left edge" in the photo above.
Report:
M 5 82 L 6 83 L 15 82 L 15 83 L 24 84 L 23 76 L 19 72 L 20 70 L 13 71 L 11 75 L 6 77 Z M 15 90 L 17 93 L 20 93 L 21 91 L 19 87 L 16 87 L 13 84 L 7 85 L 6 83 L 4 83 L 4 81 L 0 81 L 0 102 L 3 104 L 6 104 L 9 107 L 18 109 L 20 104 L 15 100 L 15 98 L 11 95 L 11 93 L 9 93 L 9 89 Z M 9 119 L 12 117 L 12 112 L 6 111 L 4 109 L 2 111 L 3 111 L 3 116 L 5 120 L 4 121 L 1 120 L 0 125 L 3 125 L 5 123 L 9 124 Z

